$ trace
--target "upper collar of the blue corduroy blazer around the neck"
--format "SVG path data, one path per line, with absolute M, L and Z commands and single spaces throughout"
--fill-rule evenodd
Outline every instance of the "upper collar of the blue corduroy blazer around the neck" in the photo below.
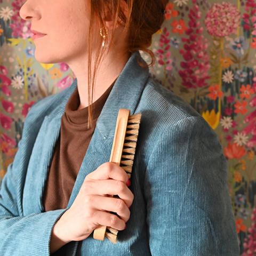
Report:
M 138 105 L 141 93 L 149 77 L 149 68 L 142 68 L 139 66 L 137 59 L 146 64 L 139 51 L 131 54 L 131 57 L 126 62 L 126 65 L 111 89 L 98 117 L 96 126 L 103 139 L 114 137 L 115 121 L 119 108 L 130 109 L 130 114 L 133 115 Z M 77 78 L 75 78 L 74 82 L 68 88 L 67 93 L 58 108 L 49 115 L 50 118 L 60 118 L 63 115 L 66 104 L 76 87 Z

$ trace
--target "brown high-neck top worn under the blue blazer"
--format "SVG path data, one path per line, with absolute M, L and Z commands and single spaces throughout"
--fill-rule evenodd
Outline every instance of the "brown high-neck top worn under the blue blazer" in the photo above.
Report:
M 88 107 L 77 110 L 80 105 L 77 88 L 71 94 L 65 113 L 61 117 L 60 135 L 55 144 L 46 180 L 43 197 L 45 211 L 66 209 L 97 119 L 114 83 L 115 81 L 97 101 L 92 103 L 93 124 L 91 129 L 87 129 Z

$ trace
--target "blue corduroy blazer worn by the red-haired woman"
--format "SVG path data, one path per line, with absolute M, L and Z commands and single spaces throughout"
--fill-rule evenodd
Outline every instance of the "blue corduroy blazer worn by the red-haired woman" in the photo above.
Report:
M 66 244 L 59 255 L 239 255 L 227 160 L 217 134 L 137 58 L 146 63 L 139 51 L 131 55 L 102 108 L 66 209 L 45 212 L 42 197 L 61 116 L 77 79 L 31 107 L 1 184 L 1 256 L 50 255 L 54 223 L 72 205 L 86 175 L 109 162 L 119 108 L 142 114 L 127 228 L 119 231 L 117 244 L 95 240 L 92 233 Z

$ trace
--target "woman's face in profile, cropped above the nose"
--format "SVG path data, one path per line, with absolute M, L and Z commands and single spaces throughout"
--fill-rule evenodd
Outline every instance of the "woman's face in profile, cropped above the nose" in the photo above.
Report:
M 46 34 L 34 41 L 37 61 L 69 63 L 86 57 L 90 0 L 27 0 L 20 17 L 31 22 L 32 30 Z

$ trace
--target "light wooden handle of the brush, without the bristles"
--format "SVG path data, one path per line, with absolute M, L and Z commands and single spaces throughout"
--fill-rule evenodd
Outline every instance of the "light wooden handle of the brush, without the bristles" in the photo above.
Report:
M 109 162 L 115 163 L 120 166 L 122 151 L 124 147 L 124 139 L 127 129 L 127 123 L 130 116 L 130 110 L 121 108 L 119 109 L 117 120 L 116 120 L 116 129 L 113 140 L 113 145 L 111 149 L 111 155 Z M 113 197 L 113 195 L 109 195 Z M 95 228 L 93 231 L 93 238 L 103 241 L 106 233 L 106 226 L 99 225 L 98 228 Z

